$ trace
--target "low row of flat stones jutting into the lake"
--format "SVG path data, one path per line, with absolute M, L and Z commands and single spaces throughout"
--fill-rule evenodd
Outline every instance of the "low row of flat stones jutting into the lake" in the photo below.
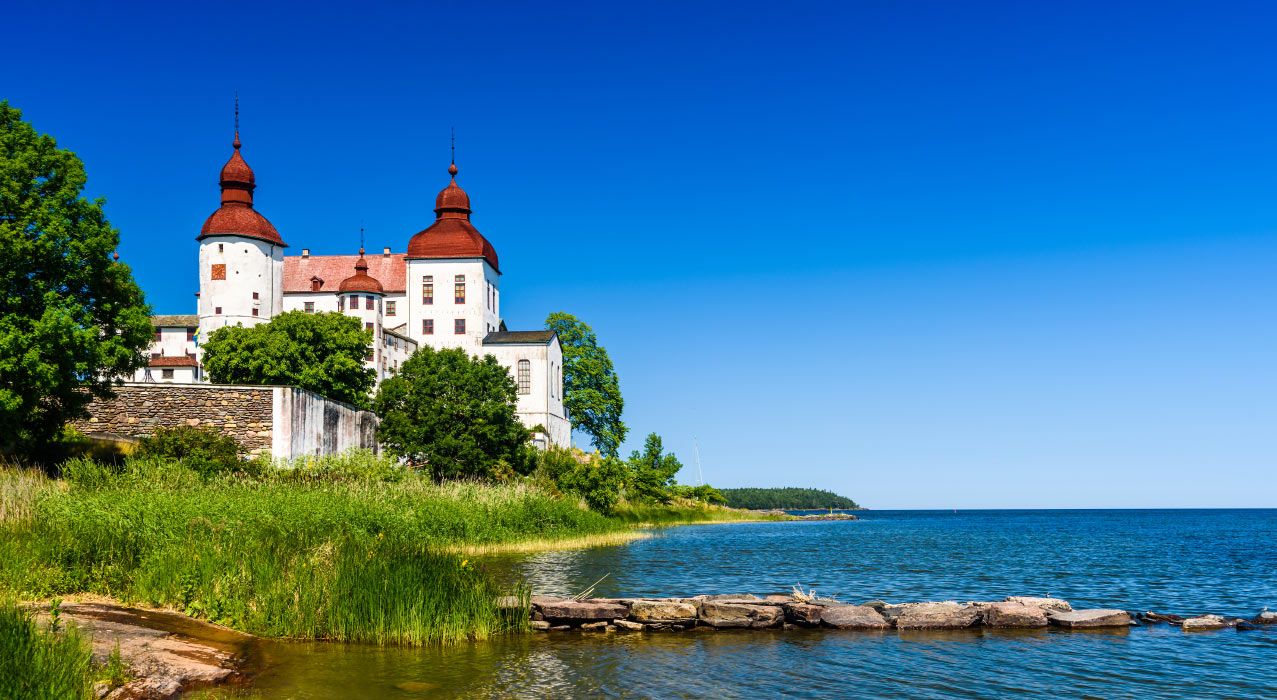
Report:
M 504 604 L 517 607 L 517 599 Z M 585 600 L 534 595 L 533 627 L 543 631 L 697 631 L 722 628 L 838 630 L 967 630 L 1043 628 L 1098 630 L 1168 622 L 1191 630 L 1249 628 L 1277 625 L 1277 614 L 1253 620 L 1199 616 L 1183 618 L 1117 609 L 1074 609 L 1059 598 L 1010 597 L 999 602 L 956 600 L 890 604 L 872 600 L 853 605 L 794 595 L 725 594 L 692 598 L 593 598 Z

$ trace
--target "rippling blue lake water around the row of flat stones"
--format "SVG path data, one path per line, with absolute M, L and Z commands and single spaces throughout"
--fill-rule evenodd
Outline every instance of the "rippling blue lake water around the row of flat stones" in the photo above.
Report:
M 858 514 L 684 526 L 488 559 L 538 593 L 783 593 L 1250 617 L 1277 609 L 1277 510 Z M 269 644 L 261 697 L 1277 697 L 1277 630 L 538 634 L 442 649 Z M 407 683 L 407 685 L 404 685 Z

